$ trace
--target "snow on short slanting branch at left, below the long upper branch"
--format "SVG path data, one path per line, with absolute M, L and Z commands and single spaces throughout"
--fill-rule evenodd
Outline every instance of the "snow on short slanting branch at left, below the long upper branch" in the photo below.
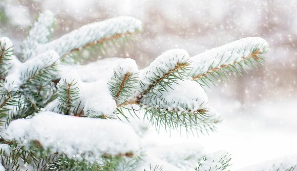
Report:
M 46 67 L 59 60 L 59 55 L 54 51 L 42 53 L 22 64 L 14 66 L 11 73 L 6 77 L 4 87 L 8 91 L 16 91 L 19 86 Z

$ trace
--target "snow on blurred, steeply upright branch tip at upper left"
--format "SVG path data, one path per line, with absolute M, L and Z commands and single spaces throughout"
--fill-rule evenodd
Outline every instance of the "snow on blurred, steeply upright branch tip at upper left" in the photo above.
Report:
M 33 23 L 32 28 L 29 30 L 26 39 L 23 41 L 22 52 L 25 61 L 36 55 L 34 51 L 39 44 L 48 42 L 53 23 L 54 14 L 51 11 L 46 10 L 39 14 L 37 20 Z

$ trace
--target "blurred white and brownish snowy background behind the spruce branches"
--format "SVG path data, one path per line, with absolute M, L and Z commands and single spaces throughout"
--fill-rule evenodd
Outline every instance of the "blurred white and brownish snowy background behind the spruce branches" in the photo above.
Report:
M 141 19 L 144 31 L 130 46 L 111 54 L 133 58 L 140 68 L 169 48 L 184 48 L 194 56 L 240 38 L 263 37 L 271 46 L 265 66 L 207 90 L 211 105 L 224 119 L 218 131 L 198 139 L 173 138 L 202 143 L 209 152 L 230 152 L 231 169 L 297 154 L 295 0 L 1 0 L 0 36 L 12 38 L 18 50 L 31 21 L 46 9 L 56 13 L 54 37 L 119 15 Z

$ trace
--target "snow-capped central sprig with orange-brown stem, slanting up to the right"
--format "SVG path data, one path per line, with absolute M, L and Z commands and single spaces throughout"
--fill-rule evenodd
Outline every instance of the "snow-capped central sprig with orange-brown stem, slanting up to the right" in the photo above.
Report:
M 156 92 L 163 93 L 172 89 L 178 80 L 187 77 L 189 55 L 185 50 L 175 49 L 164 52 L 151 65 L 140 73 L 136 97 L 140 102 L 143 99 L 152 99 Z

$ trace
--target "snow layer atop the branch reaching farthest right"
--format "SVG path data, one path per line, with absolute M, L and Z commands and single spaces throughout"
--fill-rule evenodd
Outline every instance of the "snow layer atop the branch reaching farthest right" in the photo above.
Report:
M 261 37 L 247 37 L 198 54 L 191 58 L 191 66 L 195 69 L 190 76 L 200 76 L 209 69 L 242 61 L 254 50 L 259 50 L 260 54 L 268 51 L 268 43 Z

